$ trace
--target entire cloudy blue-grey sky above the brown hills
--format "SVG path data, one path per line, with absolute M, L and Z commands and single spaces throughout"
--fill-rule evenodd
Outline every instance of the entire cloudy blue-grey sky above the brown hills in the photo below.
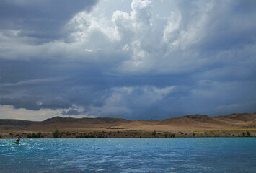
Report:
M 0 118 L 256 112 L 254 0 L 2 0 Z

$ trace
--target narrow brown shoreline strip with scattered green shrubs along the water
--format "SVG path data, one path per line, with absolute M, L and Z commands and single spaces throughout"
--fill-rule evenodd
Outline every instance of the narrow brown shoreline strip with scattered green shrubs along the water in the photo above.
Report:
M 179 130 L 179 131 L 12 131 L 0 132 L 0 138 L 205 138 L 205 137 L 256 137 L 255 129 L 244 130 Z

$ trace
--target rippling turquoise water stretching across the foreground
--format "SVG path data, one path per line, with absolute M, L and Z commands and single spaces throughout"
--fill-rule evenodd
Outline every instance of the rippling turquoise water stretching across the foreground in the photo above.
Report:
M 256 172 L 256 138 L 0 140 L 0 172 Z

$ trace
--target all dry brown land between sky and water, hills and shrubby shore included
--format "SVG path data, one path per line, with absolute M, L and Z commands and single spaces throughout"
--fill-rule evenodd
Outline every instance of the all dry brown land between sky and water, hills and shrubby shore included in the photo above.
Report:
M 41 122 L 0 119 L 0 138 L 152 138 L 256 136 L 256 113 L 218 117 L 185 115 L 166 120 L 53 117 Z

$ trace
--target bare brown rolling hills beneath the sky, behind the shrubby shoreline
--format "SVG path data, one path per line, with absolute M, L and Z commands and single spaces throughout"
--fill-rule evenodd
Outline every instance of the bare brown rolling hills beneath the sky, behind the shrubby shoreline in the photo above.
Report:
M 113 117 L 53 117 L 44 121 L 0 119 L 0 130 L 199 130 L 256 128 L 256 113 L 218 117 L 185 115 L 166 120 L 125 120 Z

